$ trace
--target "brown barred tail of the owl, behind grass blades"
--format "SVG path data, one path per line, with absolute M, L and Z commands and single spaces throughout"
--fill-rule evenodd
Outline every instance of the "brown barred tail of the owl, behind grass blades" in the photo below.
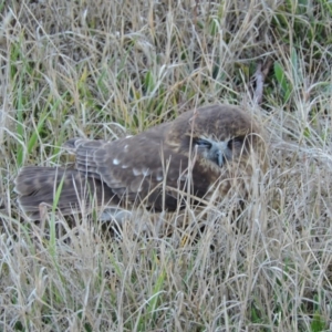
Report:
M 71 168 L 23 167 L 14 190 L 19 194 L 20 207 L 34 220 L 41 218 L 42 206 L 72 215 L 89 212 L 114 199 L 111 188 L 101 179 L 86 177 Z

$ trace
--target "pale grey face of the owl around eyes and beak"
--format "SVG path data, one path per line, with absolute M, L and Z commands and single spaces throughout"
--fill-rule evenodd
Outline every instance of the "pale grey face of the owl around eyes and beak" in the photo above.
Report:
M 222 167 L 228 160 L 240 155 L 243 137 L 235 137 L 221 142 L 210 138 L 196 138 L 194 144 L 200 156 Z

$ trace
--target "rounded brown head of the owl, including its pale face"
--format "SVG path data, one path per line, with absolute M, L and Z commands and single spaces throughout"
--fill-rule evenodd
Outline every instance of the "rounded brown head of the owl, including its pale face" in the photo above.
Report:
M 175 122 L 180 149 L 191 151 L 198 162 L 220 170 L 227 165 L 267 169 L 262 129 L 252 116 L 236 106 L 214 105 L 187 112 Z M 175 132 L 173 131 L 173 134 Z

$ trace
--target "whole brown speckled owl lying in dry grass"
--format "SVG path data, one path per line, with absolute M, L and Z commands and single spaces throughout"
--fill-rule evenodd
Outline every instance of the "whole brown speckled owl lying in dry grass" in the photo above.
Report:
M 91 207 L 139 205 L 155 211 L 183 204 L 179 191 L 204 198 L 215 188 L 225 196 L 235 179 L 267 167 L 266 145 L 253 118 L 238 107 L 211 105 L 175 121 L 113 142 L 70 139 L 75 168 L 23 167 L 15 179 L 22 209 L 39 219 L 39 206 L 62 214 Z M 195 200 L 194 200 L 195 201 Z

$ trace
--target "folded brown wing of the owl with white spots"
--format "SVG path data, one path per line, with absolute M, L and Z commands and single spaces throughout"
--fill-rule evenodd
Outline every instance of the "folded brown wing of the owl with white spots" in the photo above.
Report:
M 184 189 L 188 157 L 165 142 L 166 126 L 114 142 L 73 138 L 66 147 L 76 155 L 77 170 L 105 183 L 118 199 L 139 199 L 155 210 L 174 210 L 176 190 L 165 190 L 165 186 Z

